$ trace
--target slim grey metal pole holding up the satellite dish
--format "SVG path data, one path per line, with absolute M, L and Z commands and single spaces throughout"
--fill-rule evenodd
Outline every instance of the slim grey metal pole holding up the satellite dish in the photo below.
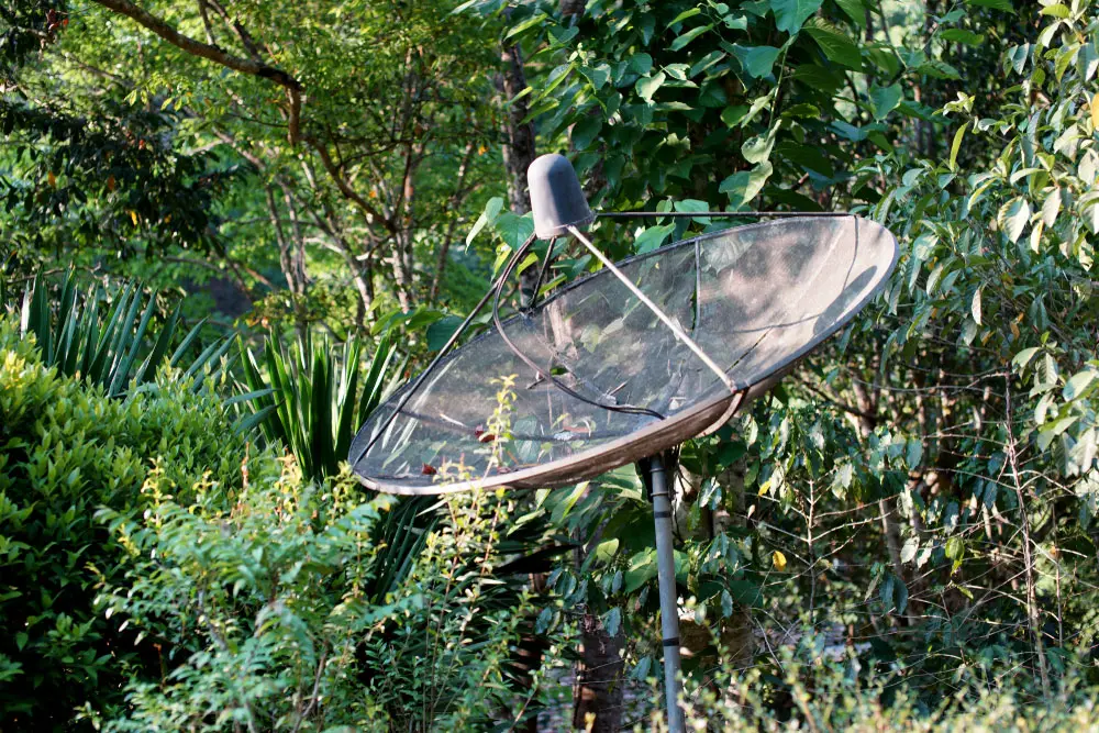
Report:
M 676 593 L 676 559 L 671 538 L 671 498 L 664 473 L 664 460 L 648 460 L 653 489 L 653 517 L 656 520 L 656 568 L 660 588 L 660 631 L 664 642 L 664 696 L 668 708 L 668 731 L 684 733 L 684 715 L 679 709 L 679 604 Z

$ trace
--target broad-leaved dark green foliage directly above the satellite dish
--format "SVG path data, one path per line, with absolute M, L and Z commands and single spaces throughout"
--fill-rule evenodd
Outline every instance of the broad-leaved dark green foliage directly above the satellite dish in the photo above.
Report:
M 567 131 L 603 206 L 671 198 L 680 210 L 720 201 L 735 210 L 761 193 L 806 210 L 851 195 L 873 200 L 880 190 L 847 185 L 853 162 L 890 147 L 891 114 L 930 115 L 899 81 L 920 55 L 861 42 L 857 2 L 523 10 L 511 35 L 545 70 L 532 84 L 531 114 L 548 141 Z

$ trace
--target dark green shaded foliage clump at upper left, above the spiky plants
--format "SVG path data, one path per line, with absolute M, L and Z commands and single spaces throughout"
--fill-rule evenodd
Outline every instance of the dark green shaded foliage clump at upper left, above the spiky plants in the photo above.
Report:
M 51 252 L 109 247 L 129 257 L 217 246 L 212 203 L 238 167 L 174 149 L 169 114 L 121 99 L 101 101 L 91 118 L 52 107 L 0 100 L 2 230 L 20 269 Z

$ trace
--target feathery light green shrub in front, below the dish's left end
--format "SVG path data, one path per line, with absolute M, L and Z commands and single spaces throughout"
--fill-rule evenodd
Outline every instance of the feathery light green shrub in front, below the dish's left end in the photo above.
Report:
M 200 485 L 180 506 L 156 471 L 146 491 L 142 520 L 102 513 L 136 563 L 104 602 L 170 652 L 162 681 L 131 684 L 133 711 L 108 730 L 474 730 L 508 695 L 521 617 L 491 603 L 482 536 L 506 504 L 485 515 L 451 502 L 379 598 L 377 532 L 395 501 L 360 503 L 347 474 L 311 485 L 292 462 L 259 457 L 233 504 Z

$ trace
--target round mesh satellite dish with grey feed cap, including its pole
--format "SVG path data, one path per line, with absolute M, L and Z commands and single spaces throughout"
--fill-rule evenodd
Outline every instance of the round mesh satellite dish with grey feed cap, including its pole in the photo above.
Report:
M 536 235 L 568 234 L 603 268 L 501 319 L 501 293 L 532 248 L 534 236 L 528 240 L 428 369 L 370 415 L 349 460 L 369 488 L 402 495 L 555 487 L 641 462 L 656 519 L 675 733 L 682 730 L 678 613 L 660 456 L 720 427 L 848 323 L 892 271 L 897 242 L 846 213 L 601 214 L 774 218 L 614 264 L 578 229 L 592 214 L 568 160 L 543 156 L 529 176 Z M 496 327 L 448 354 L 493 297 Z M 510 436 L 492 446 L 500 436 L 487 426 L 496 380 L 506 377 L 514 378 Z M 455 465 L 462 478 L 441 481 L 443 467 Z

